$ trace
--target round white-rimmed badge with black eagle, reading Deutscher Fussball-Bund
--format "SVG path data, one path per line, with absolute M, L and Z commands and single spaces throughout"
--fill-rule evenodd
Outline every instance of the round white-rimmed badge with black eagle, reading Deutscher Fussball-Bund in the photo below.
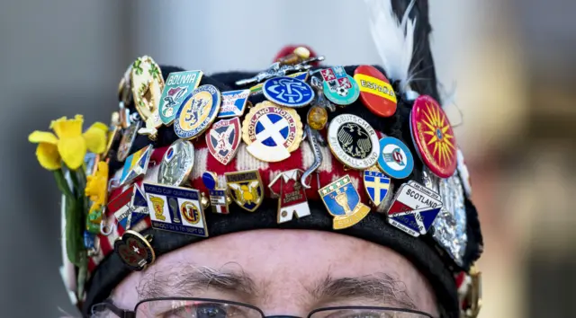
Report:
M 380 146 L 374 128 L 356 115 L 342 114 L 330 121 L 328 143 L 339 162 L 364 170 L 378 161 Z

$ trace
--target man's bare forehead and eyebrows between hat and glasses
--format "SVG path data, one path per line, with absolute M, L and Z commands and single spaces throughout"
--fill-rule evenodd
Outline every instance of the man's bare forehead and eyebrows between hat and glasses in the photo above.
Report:
M 112 292 L 132 310 L 141 299 L 186 296 L 306 317 L 337 305 L 416 309 L 437 317 L 428 281 L 400 254 L 343 234 L 257 230 L 194 243 L 133 272 Z

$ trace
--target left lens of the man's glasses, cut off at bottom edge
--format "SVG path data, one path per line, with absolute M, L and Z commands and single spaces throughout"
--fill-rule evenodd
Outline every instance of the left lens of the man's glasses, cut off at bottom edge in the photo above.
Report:
M 254 308 L 220 301 L 150 300 L 136 309 L 136 318 L 263 318 Z

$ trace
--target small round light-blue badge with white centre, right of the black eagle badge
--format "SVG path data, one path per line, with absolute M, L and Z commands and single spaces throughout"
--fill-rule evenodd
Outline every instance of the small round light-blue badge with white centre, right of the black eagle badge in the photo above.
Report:
M 394 179 L 405 179 L 414 169 L 414 157 L 399 139 L 383 137 L 380 139 L 378 166 Z

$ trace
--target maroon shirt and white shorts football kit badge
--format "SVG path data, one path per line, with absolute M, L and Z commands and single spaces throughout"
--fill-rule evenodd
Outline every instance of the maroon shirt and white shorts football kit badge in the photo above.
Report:
M 310 216 L 306 190 L 302 186 L 302 170 L 281 172 L 268 184 L 268 189 L 278 197 L 278 224 L 292 221 L 293 216 Z

